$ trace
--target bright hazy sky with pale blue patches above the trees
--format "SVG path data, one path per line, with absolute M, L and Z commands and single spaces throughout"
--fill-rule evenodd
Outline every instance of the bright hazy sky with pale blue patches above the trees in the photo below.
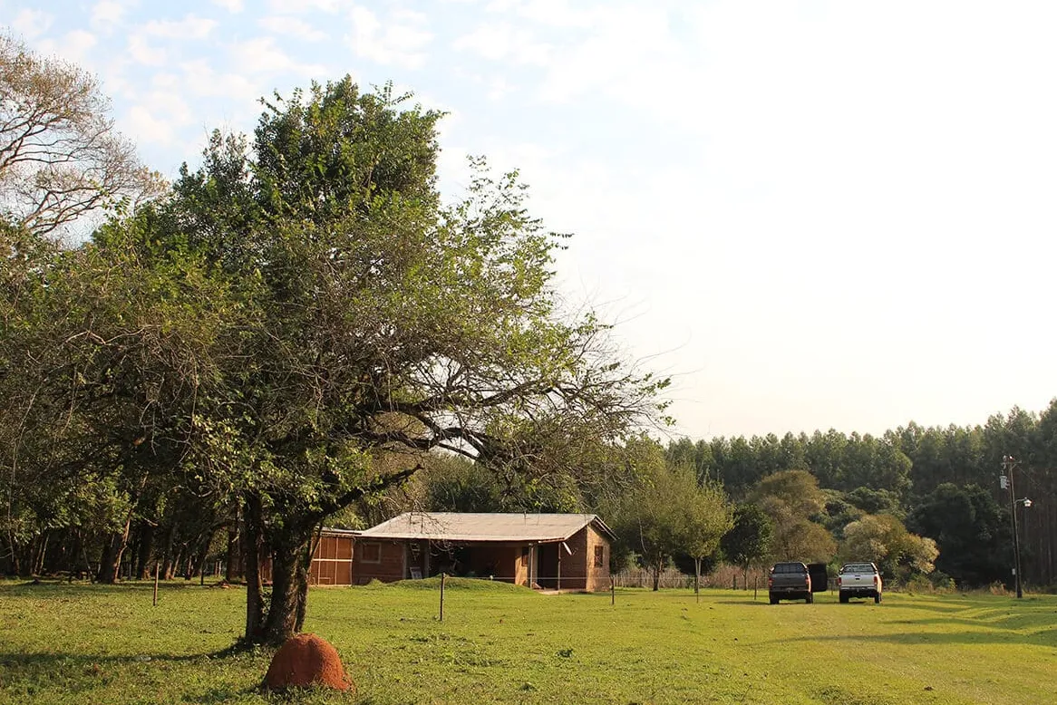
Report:
M 674 435 L 883 433 L 1057 396 L 1057 3 L 0 0 L 170 178 L 346 74 L 444 110 L 572 233 L 571 309 L 672 376 Z

